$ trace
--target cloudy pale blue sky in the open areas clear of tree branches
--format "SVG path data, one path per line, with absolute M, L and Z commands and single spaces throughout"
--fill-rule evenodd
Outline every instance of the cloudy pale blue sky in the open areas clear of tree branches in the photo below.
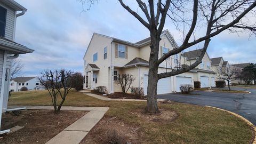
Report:
M 59 68 L 82 72 L 83 55 L 93 33 L 130 42 L 149 36 L 149 31 L 118 1 L 100 1 L 82 13 L 82 4 L 76 0 L 16 1 L 28 11 L 17 18 L 15 42 L 35 50 L 20 55 L 25 64 L 22 76 L 37 76 L 44 69 Z M 180 35 L 170 23 L 167 20 L 164 29 L 169 29 L 179 44 Z M 248 34 L 226 32 L 212 38 L 207 53 L 211 58 L 223 57 L 229 63 L 256 63 L 255 48 L 255 37 L 249 39 Z

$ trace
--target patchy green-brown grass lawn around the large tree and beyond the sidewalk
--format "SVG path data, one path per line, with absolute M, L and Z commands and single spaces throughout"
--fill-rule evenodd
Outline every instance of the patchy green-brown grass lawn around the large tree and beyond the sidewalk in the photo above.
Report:
M 9 105 L 51 105 L 47 91 L 12 92 Z M 146 102 L 102 101 L 71 91 L 65 106 L 110 107 L 107 117 L 141 127 L 143 143 L 252 143 L 254 132 L 241 119 L 221 110 L 185 103 L 159 103 L 160 109 L 173 110 L 171 122 L 149 122 L 131 112 Z

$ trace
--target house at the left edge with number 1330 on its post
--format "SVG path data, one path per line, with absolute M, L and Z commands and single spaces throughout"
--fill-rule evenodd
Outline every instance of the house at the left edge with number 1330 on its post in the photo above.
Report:
M 17 18 L 26 11 L 25 7 L 13 0 L 0 1 L 0 109 L 3 112 L 7 109 L 9 97 L 11 59 L 34 51 L 14 42 Z M 5 132 L 1 131 L 0 134 Z

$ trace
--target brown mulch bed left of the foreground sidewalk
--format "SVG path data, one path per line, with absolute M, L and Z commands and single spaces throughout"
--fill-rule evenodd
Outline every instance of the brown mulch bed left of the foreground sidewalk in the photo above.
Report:
M 87 111 L 24 110 L 6 113 L 2 117 L 1 130 L 13 126 L 25 126 L 11 134 L 3 134 L 0 143 L 45 143 L 77 121 Z

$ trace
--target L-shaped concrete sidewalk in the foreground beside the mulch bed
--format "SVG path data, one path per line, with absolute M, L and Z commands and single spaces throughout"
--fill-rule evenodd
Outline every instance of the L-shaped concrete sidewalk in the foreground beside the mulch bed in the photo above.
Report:
M 10 106 L 9 108 L 26 107 L 26 109 L 42 109 L 53 110 L 53 106 Z M 76 122 L 69 125 L 66 129 L 61 131 L 47 144 L 78 144 L 89 133 L 89 131 L 100 121 L 100 119 L 108 111 L 108 107 L 61 107 L 62 110 L 79 110 L 90 111 L 83 117 L 79 118 Z

